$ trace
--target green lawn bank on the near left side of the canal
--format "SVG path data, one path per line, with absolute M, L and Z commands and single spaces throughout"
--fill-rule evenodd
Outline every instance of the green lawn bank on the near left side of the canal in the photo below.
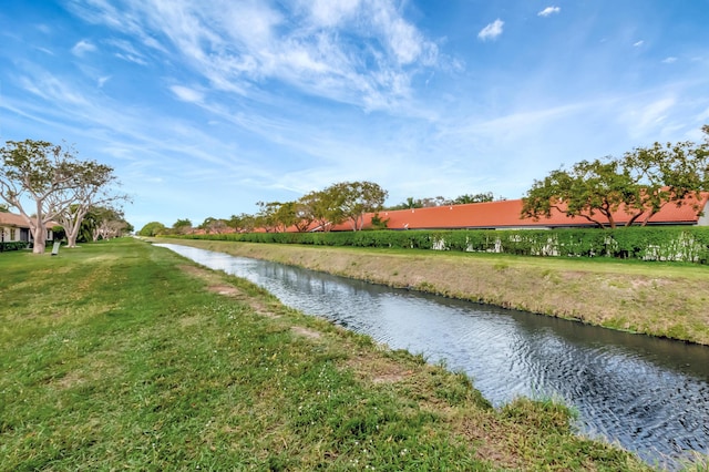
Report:
M 0 470 L 646 470 L 133 239 L 0 255 Z

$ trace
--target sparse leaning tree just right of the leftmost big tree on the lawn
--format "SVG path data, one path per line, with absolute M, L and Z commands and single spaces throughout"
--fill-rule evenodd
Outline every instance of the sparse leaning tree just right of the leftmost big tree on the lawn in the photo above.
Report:
M 56 220 L 66 232 L 68 247 L 76 247 L 79 229 L 91 208 L 113 206 L 120 201 L 129 199 L 127 195 L 111 193 L 109 185 L 116 182 L 112 167 L 96 162 L 86 162 L 78 168 L 78 172 L 75 185 L 64 191 L 65 197 L 73 203 L 56 215 Z

